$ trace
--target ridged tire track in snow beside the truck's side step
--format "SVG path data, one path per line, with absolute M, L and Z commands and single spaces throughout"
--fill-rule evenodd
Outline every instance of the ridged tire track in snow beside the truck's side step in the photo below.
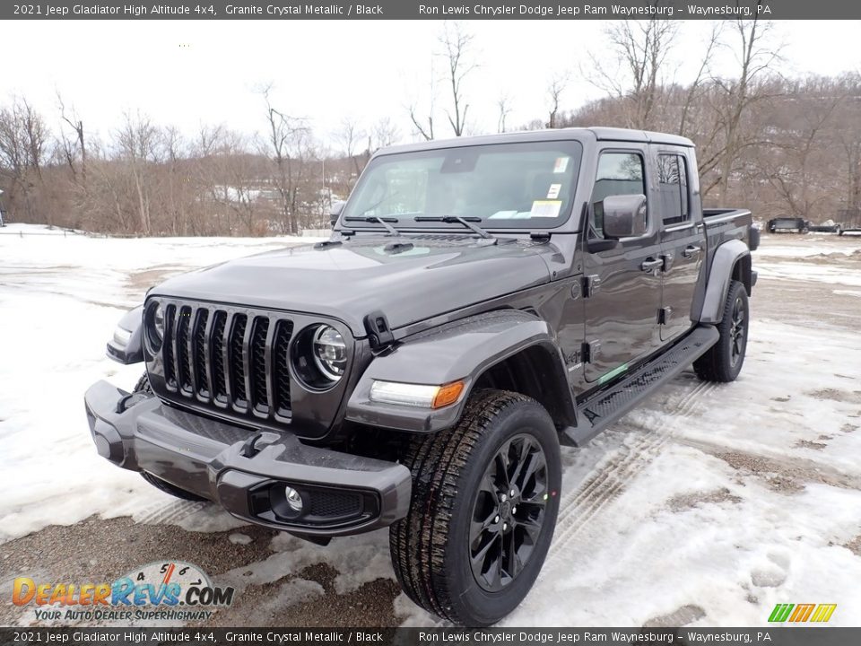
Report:
M 717 384 L 700 382 L 683 395 L 674 406 L 665 406 L 672 411 L 675 420 L 693 415 L 700 408 L 701 397 L 717 387 Z M 564 495 L 560 503 L 556 530 L 548 559 L 554 558 L 578 536 L 588 521 L 602 513 L 636 476 L 657 458 L 674 430 L 670 424 L 661 424 L 657 430 L 641 432 L 639 438 L 622 444 L 609 458 L 605 458 L 592 469 L 590 476 L 573 492 Z

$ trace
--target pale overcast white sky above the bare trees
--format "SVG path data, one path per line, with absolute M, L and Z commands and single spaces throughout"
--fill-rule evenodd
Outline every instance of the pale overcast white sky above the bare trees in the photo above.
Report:
M 501 96 L 509 97 L 509 127 L 544 118 L 554 75 L 570 72 L 565 109 L 603 94 L 588 73 L 590 52 L 605 50 L 599 21 L 467 21 L 478 67 L 465 79 L 471 134 L 496 132 Z M 390 118 L 401 139 L 413 138 L 408 106 L 427 105 L 431 76 L 441 75 L 441 21 L 39 21 L 7 23 L 0 42 L 6 64 L 0 104 L 26 97 L 60 123 L 57 92 L 105 137 L 124 112 L 140 111 L 193 136 L 202 124 L 253 133 L 265 126 L 259 88 L 273 84 L 273 104 L 309 118 L 324 144 L 337 148 L 344 119 L 373 124 Z M 727 24 L 727 26 L 729 26 Z M 787 75 L 861 71 L 859 21 L 776 22 Z M 665 77 L 690 81 L 710 29 L 683 21 Z M 604 49 L 603 49 L 604 48 Z M 433 61 L 436 60 L 434 64 Z M 11 64 L 14 61 L 14 64 Z M 432 69 L 435 66 L 435 70 Z M 730 52 L 718 57 L 731 74 Z M 438 92 L 438 105 L 448 99 Z M 442 112 L 437 122 L 444 124 Z M 441 128 L 449 135 L 448 127 Z

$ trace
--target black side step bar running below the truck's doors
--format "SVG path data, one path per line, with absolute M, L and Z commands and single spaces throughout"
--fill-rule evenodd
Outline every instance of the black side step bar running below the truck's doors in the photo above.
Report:
M 664 354 L 659 354 L 609 388 L 599 390 L 580 402 L 577 406 L 577 426 L 564 429 L 561 440 L 574 446 L 583 446 L 663 386 L 665 381 L 673 379 L 695 359 L 699 359 L 712 345 L 718 343 L 719 337 L 718 329 L 714 326 L 696 327 Z

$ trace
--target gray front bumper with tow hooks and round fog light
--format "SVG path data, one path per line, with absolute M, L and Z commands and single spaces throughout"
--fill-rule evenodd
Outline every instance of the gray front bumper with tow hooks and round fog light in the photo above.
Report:
M 412 480 L 403 465 L 311 447 L 289 432 L 206 419 L 158 397 L 130 397 L 107 381 L 93 384 L 84 402 L 103 458 L 218 502 L 248 522 L 345 536 L 390 525 L 409 508 Z M 301 515 L 283 505 L 284 485 L 302 493 Z

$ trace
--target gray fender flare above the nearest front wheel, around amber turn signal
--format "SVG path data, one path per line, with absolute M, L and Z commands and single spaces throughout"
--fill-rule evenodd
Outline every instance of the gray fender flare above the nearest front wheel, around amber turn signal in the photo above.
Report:
M 457 423 L 469 391 L 483 371 L 535 345 L 544 346 L 558 363 L 553 366 L 553 378 L 566 380 L 551 327 L 525 311 L 497 310 L 408 337 L 392 352 L 370 362 L 347 403 L 346 419 L 407 432 L 448 428 Z M 370 401 L 374 380 L 434 385 L 465 380 L 465 388 L 455 404 L 431 410 Z M 573 414 L 573 406 L 568 404 Z

